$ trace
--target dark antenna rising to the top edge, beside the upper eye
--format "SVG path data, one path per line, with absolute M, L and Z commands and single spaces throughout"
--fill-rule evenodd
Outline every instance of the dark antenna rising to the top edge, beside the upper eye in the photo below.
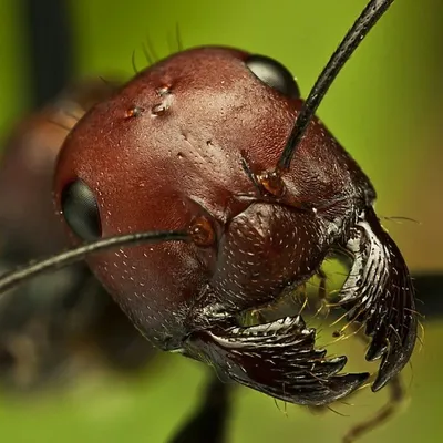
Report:
M 324 94 L 328 92 L 344 63 L 349 60 L 368 32 L 379 21 L 393 1 L 394 0 L 371 0 L 360 17 L 356 20 L 352 28 L 348 31 L 344 39 L 341 41 L 340 45 L 337 48 L 328 64 L 317 79 L 316 84 L 312 86 L 308 99 L 298 114 L 285 150 L 277 163 L 278 171 L 281 172 L 289 169 L 293 153 L 300 144 L 306 128 L 308 127 L 308 124 Z

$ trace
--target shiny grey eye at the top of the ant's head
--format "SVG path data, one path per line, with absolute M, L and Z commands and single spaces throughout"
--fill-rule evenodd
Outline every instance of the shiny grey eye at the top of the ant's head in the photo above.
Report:
M 290 99 L 300 99 L 292 74 L 278 61 L 265 55 L 249 55 L 246 65 L 264 83 Z

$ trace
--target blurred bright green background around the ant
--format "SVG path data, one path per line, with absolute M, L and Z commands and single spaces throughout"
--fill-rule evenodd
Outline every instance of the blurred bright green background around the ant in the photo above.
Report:
M 35 0 L 38 1 L 38 0 Z M 157 52 L 179 24 L 185 47 L 227 44 L 271 55 L 298 78 L 306 95 L 316 76 L 365 4 L 365 0 L 71 0 L 75 72 L 133 74 L 131 56 L 145 64 L 147 35 Z M 29 52 L 19 2 L 0 0 L 0 136 L 30 106 Z M 343 69 L 319 115 L 372 178 L 385 227 L 413 270 L 443 271 L 443 4 L 398 0 Z M 18 301 L 19 302 L 19 301 Z M 426 323 L 424 347 L 404 371 L 409 404 L 388 425 L 361 441 L 443 441 L 443 324 Z M 363 359 L 363 347 L 341 352 Z M 162 443 L 198 400 L 205 369 L 162 356 L 140 378 L 91 372 L 72 389 L 28 400 L 0 400 L 1 441 Z M 339 442 L 343 432 L 385 401 L 368 390 L 312 413 L 239 389 L 231 442 Z

